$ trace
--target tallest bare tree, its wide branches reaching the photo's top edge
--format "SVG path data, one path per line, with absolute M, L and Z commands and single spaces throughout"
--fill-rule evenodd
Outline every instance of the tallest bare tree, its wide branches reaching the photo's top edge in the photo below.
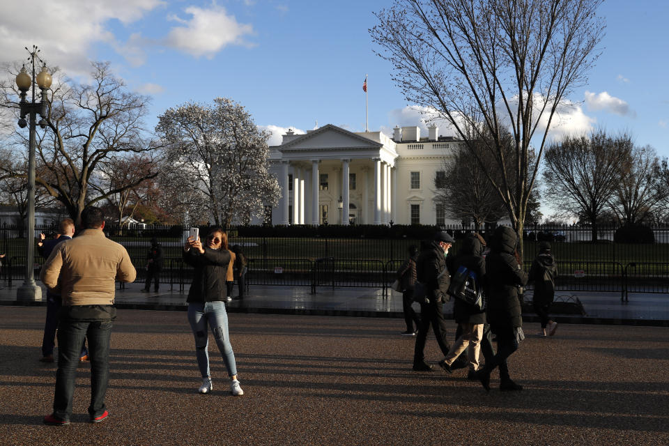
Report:
M 479 162 L 518 234 L 555 112 L 597 59 L 600 3 L 395 0 L 376 14 L 371 36 L 406 99 L 445 118 L 476 157 L 475 141 L 491 134 L 486 150 L 502 178 Z M 510 157 L 505 132 L 514 141 Z

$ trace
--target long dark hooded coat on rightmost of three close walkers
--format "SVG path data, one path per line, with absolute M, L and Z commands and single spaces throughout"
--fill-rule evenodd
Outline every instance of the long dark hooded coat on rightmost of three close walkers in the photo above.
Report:
M 518 265 L 516 233 L 509 226 L 499 226 L 491 238 L 486 256 L 486 296 L 488 322 L 498 327 L 521 327 L 523 317 L 518 287 L 528 282 L 528 275 Z

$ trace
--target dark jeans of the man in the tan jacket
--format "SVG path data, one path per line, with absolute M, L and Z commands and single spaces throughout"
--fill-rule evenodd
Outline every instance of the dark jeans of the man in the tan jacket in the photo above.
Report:
M 91 360 L 91 405 L 89 415 L 99 417 L 105 412 L 105 394 L 109 381 L 109 337 L 112 321 L 84 321 L 61 318 L 58 325 L 58 371 L 54 394 L 54 417 L 70 420 L 72 397 L 75 394 L 75 376 L 79 353 L 84 338 L 89 339 Z

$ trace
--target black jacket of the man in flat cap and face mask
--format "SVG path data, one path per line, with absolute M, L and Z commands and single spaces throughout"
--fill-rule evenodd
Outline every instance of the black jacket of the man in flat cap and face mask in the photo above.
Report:
M 438 242 L 429 242 L 422 249 L 416 261 L 416 275 L 418 282 L 426 286 L 430 303 L 449 300 L 447 291 L 451 276 L 447 270 L 444 250 Z

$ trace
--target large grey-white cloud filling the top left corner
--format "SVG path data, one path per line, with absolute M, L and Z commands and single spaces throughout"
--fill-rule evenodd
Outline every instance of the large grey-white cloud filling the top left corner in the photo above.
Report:
M 0 57 L 25 60 L 24 47 L 35 43 L 49 66 L 60 66 L 68 75 L 86 75 L 93 45 L 119 46 L 107 29 L 109 20 L 130 24 L 164 4 L 161 0 L 3 2 Z

